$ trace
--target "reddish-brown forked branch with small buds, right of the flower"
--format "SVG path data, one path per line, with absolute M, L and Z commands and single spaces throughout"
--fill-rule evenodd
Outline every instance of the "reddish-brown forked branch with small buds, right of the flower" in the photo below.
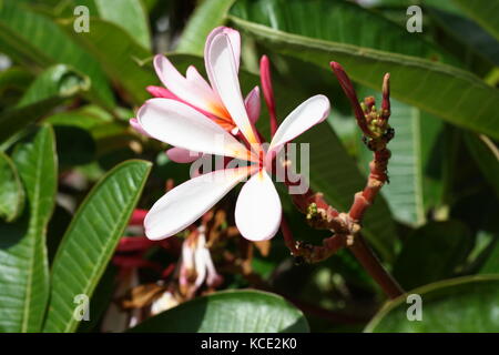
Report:
M 324 200 L 320 193 L 315 193 L 312 189 L 302 195 L 293 195 L 293 201 L 298 210 L 306 213 L 308 224 L 315 229 L 329 229 L 335 234 L 325 239 L 323 245 L 319 246 L 301 242 L 294 243 L 292 237 L 285 236 L 286 245 L 295 256 L 303 257 L 306 262 L 318 262 L 343 247 L 349 247 L 384 292 L 390 298 L 395 298 L 404 291 L 383 267 L 360 234 L 360 223 L 366 210 L 374 203 L 379 190 L 388 181 L 387 168 L 390 151 L 387 149 L 387 144 L 394 135 L 388 125 L 390 115 L 389 74 L 385 74 L 383 81 L 381 110 L 376 111 L 375 99 L 366 98 L 360 106 L 352 81 L 342 65 L 336 62 L 332 62 L 330 65 L 345 94 L 350 100 L 357 123 L 365 135 L 366 145 L 373 151 L 369 176 L 364 190 L 355 194 L 348 213 L 339 213 Z M 289 181 L 286 183 L 293 184 Z M 287 224 L 285 227 L 287 229 Z M 291 231 L 287 232 L 291 234 Z

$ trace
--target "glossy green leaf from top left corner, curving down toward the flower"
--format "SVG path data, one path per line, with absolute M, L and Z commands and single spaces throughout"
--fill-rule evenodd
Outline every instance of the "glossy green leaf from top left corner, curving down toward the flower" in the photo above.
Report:
M 72 36 L 83 36 L 74 33 Z M 54 63 L 71 65 L 92 81 L 91 95 L 111 108 L 114 99 L 100 63 L 75 44 L 50 18 L 31 11 L 26 3 L 4 0 L 0 7 L 2 51 L 29 69 Z

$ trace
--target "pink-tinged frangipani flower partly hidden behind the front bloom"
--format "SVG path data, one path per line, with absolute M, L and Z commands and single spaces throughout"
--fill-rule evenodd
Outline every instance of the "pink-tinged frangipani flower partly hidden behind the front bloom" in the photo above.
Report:
M 218 34 L 225 34 L 228 38 L 228 45 L 234 55 L 235 70 L 238 71 L 241 37 L 240 33 L 231 28 L 215 28 L 207 37 L 205 44 L 205 54 L 213 39 Z M 206 55 L 205 55 L 206 58 Z M 206 69 L 208 63 L 206 62 Z M 154 57 L 154 69 L 157 77 L 165 88 L 147 87 L 147 91 L 155 98 L 172 99 L 182 102 L 217 123 L 227 132 L 236 135 L 238 133 L 237 125 L 233 121 L 231 113 L 224 105 L 221 97 L 215 88 L 210 85 L 206 80 L 198 73 L 195 67 L 190 65 L 186 75 L 182 75 L 175 67 L 162 54 Z M 245 108 L 251 122 L 254 124 L 259 116 L 259 89 L 255 87 L 246 97 Z M 131 119 L 130 124 L 139 132 L 144 132 L 136 119 Z M 190 163 L 195 161 L 202 154 L 192 152 L 182 148 L 171 148 L 166 151 L 169 158 L 177 163 Z

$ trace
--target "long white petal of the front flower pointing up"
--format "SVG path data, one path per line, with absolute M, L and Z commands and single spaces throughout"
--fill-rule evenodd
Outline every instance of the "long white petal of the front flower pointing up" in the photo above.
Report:
M 227 34 L 218 33 L 212 39 L 205 61 L 212 87 L 218 93 L 232 120 L 251 144 L 257 144 L 258 140 L 253 132 L 241 94 L 237 68 Z

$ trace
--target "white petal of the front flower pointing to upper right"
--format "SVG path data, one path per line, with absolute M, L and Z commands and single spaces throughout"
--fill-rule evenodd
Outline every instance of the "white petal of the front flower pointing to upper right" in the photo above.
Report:
M 296 136 L 323 122 L 329 114 L 329 100 L 325 95 L 315 95 L 303 102 L 281 123 L 272 139 L 268 152 L 275 153 Z

